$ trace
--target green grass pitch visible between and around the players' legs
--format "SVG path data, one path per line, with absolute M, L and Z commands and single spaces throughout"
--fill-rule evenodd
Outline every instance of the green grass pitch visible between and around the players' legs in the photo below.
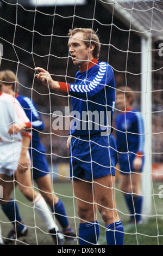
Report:
M 124 225 L 124 245 L 162 245 L 163 244 L 163 207 L 162 199 L 158 197 L 158 187 L 160 183 L 154 183 L 153 196 L 153 217 L 149 218 L 147 222 L 142 225 L 129 225 L 128 224 L 128 211 L 124 203 L 122 194 L 116 191 L 116 204 L 118 213 Z M 117 184 L 118 186 L 118 184 Z M 73 190 L 71 182 L 58 182 L 54 184 L 55 193 L 59 195 L 63 201 L 68 221 L 74 231 L 78 232 L 78 215 L 76 210 L 76 201 L 73 197 Z M 28 236 L 26 239 L 16 241 L 16 245 L 53 245 L 53 240 L 48 235 L 48 230 L 45 224 L 41 221 L 37 213 L 34 212 L 32 205 L 27 201 L 19 192 L 18 188 L 15 191 L 16 200 L 23 222 L 28 227 Z M 65 197 L 66 195 L 66 197 Z M 14 195 L 13 195 L 14 197 Z M 157 216 L 156 216 L 157 213 Z M 11 223 L 5 217 L 2 210 L 0 210 L 0 221 L 2 227 L 2 235 L 5 237 L 12 228 Z M 100 225 L 99 245 L 106 245 L 105 227 L 101 216 L 98 214 Z M 77 243 L 76 243 L 77 244 Z

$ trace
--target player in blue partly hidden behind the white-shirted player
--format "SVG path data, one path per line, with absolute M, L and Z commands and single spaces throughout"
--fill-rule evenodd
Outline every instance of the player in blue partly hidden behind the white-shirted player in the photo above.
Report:
M 40 193 L 46 203 L 51 207 L 52 212 L 55 213 L 55 217 L 63 229 L 66 242 L 74 242 L 76 241 L 76 235 L 73 233 L 70 224 L 68 223 L 64 204 L 54 193 L 52 188 L 51 175 L 49 174 L 48 163 L 46 160 L 46 150 L 39 137 L 39 132 L 45 128 L 42 117 L 37 111 L 35 103 L 30 98 L 16 93 L 18 88 L 15 88 L 15 84 L 18 84 L 18 79 L 11 70 L 2 71 L 1 78 L 3 80 L 3 90 L 5 93 L 11 94 L 18 100 L 30 120 L 30 123 L 28 123 L 28 127 L 26 128 L 32 128 L 32 140 L 30 142 L 30 148 L 32 149 L 29 150 L 33 166 L 32 177 L 37 183 Z M 11 80 L 8 78 L 12 78 L 13 82 L 10 82 Z M 14 81 L 16 81 L 16 83 Z M 20 131 L 20 129 L 20 126 L 15 127 L 15 132 Z M 49 232 L 55 234 L 56 230 L 52 229 Z M 53 235 L 52 237 L 55 241 L 56 237 Z M 62 236 L 58 236 L 58 239 L 55 242 L 57 244 L 62 244 L 61 240 Z

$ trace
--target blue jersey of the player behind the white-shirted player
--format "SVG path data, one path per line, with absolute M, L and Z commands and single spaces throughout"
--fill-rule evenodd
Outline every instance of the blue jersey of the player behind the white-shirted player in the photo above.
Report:
M 32 147 L 41 151 L 43 147 L 40 143 L 39 131 L 45 128 L 41 115 L 36 109 L 35 103 L 28 97 L 17 94 L 16 99 L 21 104 L 23 110 L 26 112 L 30 120 L 32 130 Z

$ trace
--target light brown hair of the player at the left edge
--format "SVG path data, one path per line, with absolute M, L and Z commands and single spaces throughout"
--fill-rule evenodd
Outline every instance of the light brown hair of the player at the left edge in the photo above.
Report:
M 19 81 L 14 72 L 11 70 L 4 70 L 0 72 L 0 85 L 2 84 L 5 84 L 6 86 L 12 84 L 12 90 L 14 92 L 18 91 Z

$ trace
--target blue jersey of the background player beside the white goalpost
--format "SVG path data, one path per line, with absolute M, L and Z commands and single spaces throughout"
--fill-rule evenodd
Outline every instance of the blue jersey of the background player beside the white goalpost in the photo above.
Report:
M 145 135 L 142 115 L 139 111 L 131 109 L 117 115 L 116 142 L 118 153 L 143 153 Z

